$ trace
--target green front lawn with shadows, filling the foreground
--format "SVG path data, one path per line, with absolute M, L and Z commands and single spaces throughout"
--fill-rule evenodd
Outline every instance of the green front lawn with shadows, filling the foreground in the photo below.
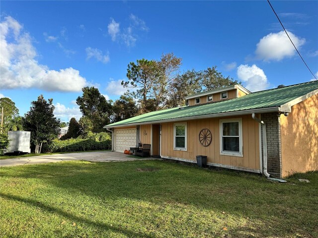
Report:
M 164 161 L 1 168 L 0 237 L 318 237 L 318 173 L 298 177 Z

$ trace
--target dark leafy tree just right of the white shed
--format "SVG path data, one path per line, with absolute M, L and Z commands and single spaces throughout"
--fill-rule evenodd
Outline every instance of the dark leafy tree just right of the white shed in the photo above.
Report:
M 46 101 L 40 95 L 37 101 L 31 102 L 30 111 L 22 119 L 24 129 L 31 131 L 36 154 L 41 153 L 43 143 L 50 144 L 60 133 L 60 119 L 54 117 L 54 109 L 53 99 Z

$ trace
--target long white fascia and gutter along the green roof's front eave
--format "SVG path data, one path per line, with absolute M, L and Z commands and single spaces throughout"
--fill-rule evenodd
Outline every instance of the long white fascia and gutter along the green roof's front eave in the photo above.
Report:
M 281 112 L 281 109 L 280 109 L 280 107 L 250 109 L 250 110 L 244 110 L 244 111 L 217 113 L 217 114 L 202 115 L 202 116 L 195 116 L 195 117 L 186 117 L 186 118 L 153 120 L 153 121 L 136 122 L 136 123 L 129 123 L 129 124 L 113 125 L 113 126 L 105 125 L 103 128 L 115 128 L 115 127 L 131 126 L 131 125 L 156 124 L 156 123 L 162 123 L 162 122 L 174 122 L 174 121 L 195 120 L 195 119 L 220 118 L 220 117 L 228 117 L 228 116 L 246 115 L 246 114 L 252 114 L 252 113 L 270 113 L 270 112 Z

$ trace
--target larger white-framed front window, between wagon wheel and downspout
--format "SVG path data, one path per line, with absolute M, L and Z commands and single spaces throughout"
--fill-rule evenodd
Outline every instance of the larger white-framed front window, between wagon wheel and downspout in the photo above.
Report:
M 242 157 L 242 148 L 242 119 L 220 120 L 220 154 Z

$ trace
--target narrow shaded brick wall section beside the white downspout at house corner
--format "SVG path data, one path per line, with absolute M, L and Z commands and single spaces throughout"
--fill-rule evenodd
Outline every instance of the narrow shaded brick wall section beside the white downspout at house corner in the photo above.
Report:
M 267 171 L 269 174 L 281 178 L 282 175 L 282 152 L 280 118 L 277 113 L 261 115 L 261 120 L 266 123 L 267 133 Z M 263 148 L 263 135 L 262 135 Z M 263 155 L 263 151 L 262 151 Z

